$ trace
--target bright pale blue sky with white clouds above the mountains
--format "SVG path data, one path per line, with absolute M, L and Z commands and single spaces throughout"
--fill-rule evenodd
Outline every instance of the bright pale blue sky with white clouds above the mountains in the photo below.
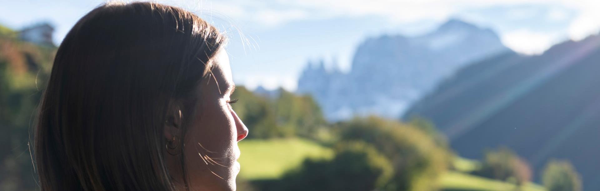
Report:
M 71 26 L 104 1 L 0 0 L 0 23 L 20 29 L 40 21 L 56 27 L 59 44 Z M 227 51 L 238 84 L 296 88 L 308 61 L 350 68 L 355 48 L 379 35 L 419 35 L 449 18 L 496 31 L 523 54 L 539 54 L 564 40 L 600 29 L 600 1 L 389 1 L 263 0 L 157 1 L 184 7 L 227 32 Z

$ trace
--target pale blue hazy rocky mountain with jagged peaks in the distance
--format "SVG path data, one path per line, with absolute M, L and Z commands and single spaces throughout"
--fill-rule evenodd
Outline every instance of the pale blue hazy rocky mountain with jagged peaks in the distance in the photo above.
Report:
M 507 50 L 490 29 L 449 20 L 418 37 L 364 41 L 347 74 L 309 63 L 298 93 L 313 95 L 329 120 L 368 114 L 394 118 L 456 69 Z

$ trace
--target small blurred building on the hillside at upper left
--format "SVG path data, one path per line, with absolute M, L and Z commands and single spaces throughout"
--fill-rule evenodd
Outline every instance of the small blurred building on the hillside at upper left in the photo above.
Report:
M 54 46 L 52 43 L 53 32 L 54 27 L 44 22 L 19 31 L 19 38 L 35 44 Z

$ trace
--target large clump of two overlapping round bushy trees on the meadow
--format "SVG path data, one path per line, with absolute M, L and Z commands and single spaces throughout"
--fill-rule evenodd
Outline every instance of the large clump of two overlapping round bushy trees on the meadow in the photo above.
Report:
M 279 190 L 436 190 L 448 152 L 418 127 L 377 117 L 332 127 L 335 157 L 307 159 Z

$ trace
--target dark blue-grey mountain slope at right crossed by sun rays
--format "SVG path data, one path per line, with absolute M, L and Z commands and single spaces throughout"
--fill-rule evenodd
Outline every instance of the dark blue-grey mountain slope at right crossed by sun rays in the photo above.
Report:
M 540 56 L 506 53 L 461 69 L 405 118 L 431 119 L 460 156 L 515 150 L 538 170 L 568 159 L 585 190 L 600 190 L 600 37 L 568 41 Z

